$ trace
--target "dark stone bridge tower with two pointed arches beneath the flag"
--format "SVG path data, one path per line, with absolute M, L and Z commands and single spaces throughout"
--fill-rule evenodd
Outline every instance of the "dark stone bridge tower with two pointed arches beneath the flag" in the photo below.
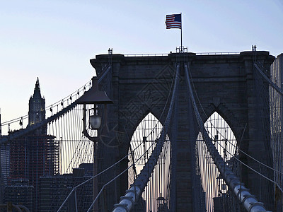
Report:
M 176 143 L 175 179 L 172 184 L 175 187 L 176 208 L 173 211 L 194 211 L 191 179 L 195 170 L 193 161 L 195 150 L 189 141 L 196 139 L 199 131 L 197 131 L 195 120 L 192 118 L 193 112 L 187 106 L 189 100 L 184 81 L 184 62 L 190 65 L 192 82 L 201 104 L 198 107 L 202 106 L 203 108 L 200 110 L 203 122 L 213 112 L 218 112 L 231 127 L 236 136 L 238 147 L 242 151 L 262 163 L 272 165 L 270 128 L 260 124 L 262 122 L 258 108 L 263 103 L 257 95 L 256 70 L 253 68 L 253 62 L 260 61 L 269 70 L 274 59 L 269 52 L 263 51 L 214 55 L 171 53 L 166 56 L 146 57 L 126 57 L 122 54 L 97 55 L 96 59 L 91 59 L 91 64 L 97 71 L 102 70 L 103 66 L 109 62 L 112 64 L 112 91 L 108 93 L 108 96 L 112 98 L 114 105 L 110 108 L 108 122 L 115 123 L 117 131 L 127 134 L 127 139 L 124 139 L 122 143 L 116 141 L 119 143 L 117 146 L 109 147 L 98 143 L 99 148 L 105 152 L 104 155 L 107 155 L 103 157 L 103 160 L 98 158 L 98 163 L 102 164 L 100 168 L 103 170 L 103 167 L 115 163 L 128 153 L 129 139 L 146 114 L 151 112 L 161 123 L 165 121 L 166 112 L 163 113 L 163 107 L 170 95 L 175 66 L 179 62 L 181 69 L 180 76 L 178 76 L 180 77 L 178 127 L 176 129 L 177 136 L 172 141 Z M 264 95 L 268 97 L 268 85 L 266 88 Z M 269 108 L 269 105 L 262 105 L 262 107 Z M 255 170 L 259 170 L 258 164 L 246 155 L 240 154 L 240 159 Z M 109 172 L 107 176 L 111 179 L 126 167 L 127 160 L 124 160 L 118 169 Z M 272 173 L 267 170 L 263 170 L 263 172 L 272 178 Z M 265 202 L 269 209 L 272 203 L 263 194 L 272 192 L 272 184 L 260 179 L 257 174 L 244 166 L 241 176 L 250 192 L 255 194 L 259 201 Z M 174 182 L 178 182 L 178 184 Z M 259 184 L 265 184 L 266 187 L 260 189 Z M 116 196 L 113 199 L 108 199 L 109 204 L 111 201 L 112 204 L 117 203 L 118 199 L 115 198 L 125 193 L 127 174 L 112 187 L 115 187 Z

